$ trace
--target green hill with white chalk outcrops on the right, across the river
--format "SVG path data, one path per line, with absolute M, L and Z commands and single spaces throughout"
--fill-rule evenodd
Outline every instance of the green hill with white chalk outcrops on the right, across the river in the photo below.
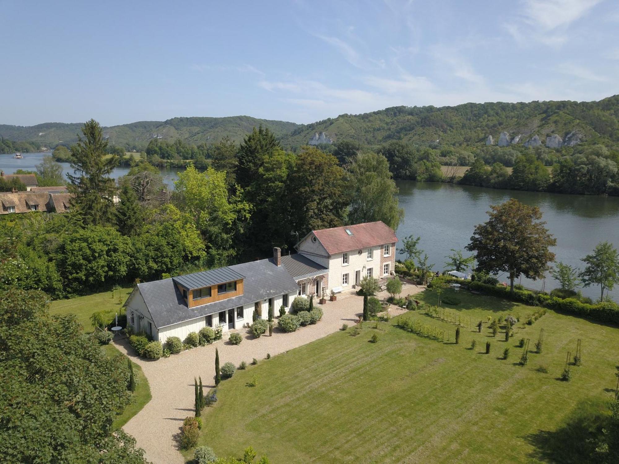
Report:
M 571 131 L 586 142 L 615 145 L 619 142 L 619 95 L 600 101 L 532 101 L 530 103 L 465 103 L 457 106 L 394 106 L 364 114 L 341 114 L 337 118 L 297 127 L 284 142 L 307 143 L 316 132 L 337 140 L 350 139 L 368 145 L 391 140 L 441 145 L 483 145 L 488 135 L 498 140 L 502 131 L 510 138 L 522 134 L 522 142 L 539 135 Z

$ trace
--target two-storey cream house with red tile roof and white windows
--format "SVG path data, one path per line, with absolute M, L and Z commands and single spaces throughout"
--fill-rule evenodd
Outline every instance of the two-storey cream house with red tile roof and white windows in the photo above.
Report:
M 394 272 L 397 237 L 383 221 L 313 230 L 297 246 L 299 254 L 329 270 L 327 288 L 350 288 L 366 275 Z

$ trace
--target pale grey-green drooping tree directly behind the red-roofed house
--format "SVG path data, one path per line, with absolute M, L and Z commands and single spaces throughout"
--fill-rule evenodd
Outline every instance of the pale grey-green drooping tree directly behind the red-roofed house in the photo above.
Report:
M 376 153 L 359 153 L 348 168 L 349 222 L 383 221 L 396 230 L 404 218 L 397 192 L 387 158 Z

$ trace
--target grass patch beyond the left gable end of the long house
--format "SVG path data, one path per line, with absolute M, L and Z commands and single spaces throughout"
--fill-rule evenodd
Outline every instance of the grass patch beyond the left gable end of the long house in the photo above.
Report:
M 58 299 L 51 302 L 50 314 L 75 314 L 84 330 L 92 332 L 90 315 L 97 311 L 110 311 L 112 317 L 116 312 L 120 315 L 124 311 L 123 304 L 132 290 L 133 286 L 114 290 L 113 298 L 112 291 L 104 291 L 76 298 Z

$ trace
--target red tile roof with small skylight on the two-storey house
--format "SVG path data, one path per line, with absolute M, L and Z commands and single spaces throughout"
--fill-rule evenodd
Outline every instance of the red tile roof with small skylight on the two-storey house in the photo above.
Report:
M 352 235 L 346 233 L 347 229 Z M 396 233 L 383 221 L 314 230 L 313 233 L 329 254 L 397 242 Z

